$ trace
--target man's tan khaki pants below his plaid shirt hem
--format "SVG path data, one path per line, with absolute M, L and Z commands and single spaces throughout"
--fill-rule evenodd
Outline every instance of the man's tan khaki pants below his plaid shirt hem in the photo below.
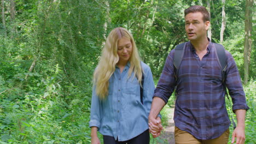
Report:
M 175 143 L 176 144 L 226 144 L 229 140 L 229 129 L 226 130 L 221 136 L 212 140 L 199 140 L 187 131 L 180 130 L 175 127 L 174 131 Z

